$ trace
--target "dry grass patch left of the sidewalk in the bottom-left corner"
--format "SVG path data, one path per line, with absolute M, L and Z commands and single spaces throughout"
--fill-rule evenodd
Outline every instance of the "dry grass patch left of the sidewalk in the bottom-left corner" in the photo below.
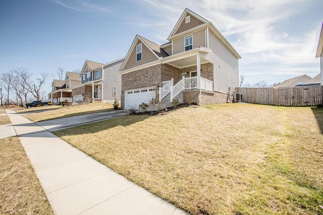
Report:
M 0 214 L 53 214 L 18 137 L 0 139 Z

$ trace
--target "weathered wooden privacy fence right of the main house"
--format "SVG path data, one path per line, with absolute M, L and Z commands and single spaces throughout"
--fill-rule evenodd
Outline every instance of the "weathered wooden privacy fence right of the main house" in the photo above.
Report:
M 291 88 L 236 88 L 242 102 L 278 106 L 316 106 L 323 104 L 323 86 Z

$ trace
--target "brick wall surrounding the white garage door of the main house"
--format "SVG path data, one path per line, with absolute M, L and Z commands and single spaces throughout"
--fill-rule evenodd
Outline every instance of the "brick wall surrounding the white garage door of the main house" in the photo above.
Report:
M 124 109 L 125 91 L 137 88 L 161 86 L 161 64 L 142 68 L 121 76 L 121 108 Z M 157 95 L 156 95 L 156 98 Z

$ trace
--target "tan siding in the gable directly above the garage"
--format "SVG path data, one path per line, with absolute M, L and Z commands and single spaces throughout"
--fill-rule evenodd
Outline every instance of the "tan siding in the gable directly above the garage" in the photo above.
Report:
M 132 53 L 130 54 L 130 57 L 125 65 L 125 68 L 124 69 L 127 69 L 127 68 L 131 68 L 133 66 L 136 66 L 136 65 L 141 65 L 141 64 L 144 64 L 144 63 L 147 63 L 147 62 L 150 62 L 150 61 L 153 61 L 153 60 L 156 60 L 158 59 L 143 43 L 142 43 L 142 53 L 141 53 L 141 60 L 136 62 L 136 59 L 137 59 L 137 53 L 136 53 L 136 46 L 138 44 L 142 43 L 140 40 L 138 40 L 138 42 L 136 43 L 135 45 L 135 48 L 133 49 Z

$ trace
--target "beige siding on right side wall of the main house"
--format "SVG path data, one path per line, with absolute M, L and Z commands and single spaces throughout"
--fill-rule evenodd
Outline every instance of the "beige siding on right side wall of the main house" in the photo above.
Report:
M 230 87 L 232 93 L 239 85 L 237 57 L 211 31 L 209 31 L 209 48 L 212 52 L 200 54 L 213 63 L 214 91 L 227 93 Z

